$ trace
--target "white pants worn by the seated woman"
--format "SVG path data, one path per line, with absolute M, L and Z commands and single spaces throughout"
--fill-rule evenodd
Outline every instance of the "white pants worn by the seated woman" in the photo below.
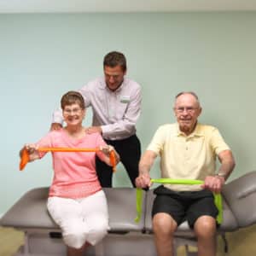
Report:
M 102 190 L 77 200 L 49 197 L 47 208 L 68 247 L 79 249 L 85 241 L 95 245 L 107 235 L 108 206 Z

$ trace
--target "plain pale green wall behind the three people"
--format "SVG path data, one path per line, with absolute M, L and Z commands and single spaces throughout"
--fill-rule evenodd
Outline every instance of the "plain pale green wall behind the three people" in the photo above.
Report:
M 216 125 L 236 157 L 231 178 L 252 171 L 256 95 L 256 13 L 0 15 L 0 213 L 28 189 L 48 186 L 50 155 L 19 172 L 19 150 L 49 130 L 61 95 L 102 75 L 102 58 L 125 53 L 142 84 L 137 135 L 147 147 L 175 119 L 173 97 L 194 90 L 201 122 Z M 84 125 L 89 125 L 89 112 Z M 159 175 L 157 161 L 153 177 Z M 130 186 L 122 166 L 115 186 Z

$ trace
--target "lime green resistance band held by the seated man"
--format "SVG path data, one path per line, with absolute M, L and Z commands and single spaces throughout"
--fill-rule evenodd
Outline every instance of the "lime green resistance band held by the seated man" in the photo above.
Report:
M 161 183 L 161 184 L 183 184 L 183 185 L 195 185 L 202 184 L 201 180 L 193 179 L 172 179 L 172 178 L 152 178 L 151 183 Z M 213 193 L 214 203 L 218 208 L 218 216 L 216 221 L 218 224 L 221 224 L 223 221 L 223 207 L 222 207 L 222 197 L 220 193 Z M 137 208 L 137 217 L 135 222 L 139 222 L 142 216 L 142 206 L 143 206 L 143 189 L 136 190 L 136 208 Z

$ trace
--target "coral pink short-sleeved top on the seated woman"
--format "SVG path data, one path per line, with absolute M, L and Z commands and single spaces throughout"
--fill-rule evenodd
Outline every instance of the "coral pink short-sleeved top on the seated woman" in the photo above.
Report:
M 85 134 L 80 139 L 69 137 L 63 129 L 50 131 L 37 145 L 54 148 L 97 148 L 106 145 L 99 133 Z M 46 154 L 39 152 L 40 158 Z M 101 190 L 96 175 L 96 155 L 98 152 L 52 152 L 54 177 L 49 189 L 49 196 L 81 198 Z

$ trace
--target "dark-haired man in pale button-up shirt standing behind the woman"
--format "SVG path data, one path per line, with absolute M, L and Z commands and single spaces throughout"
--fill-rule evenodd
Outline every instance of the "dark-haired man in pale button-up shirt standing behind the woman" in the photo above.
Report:
M 127 71 L 125 55 L 113 51 L 103 61 L 104 78 L 90 81 L 79 92 L 84 96 L 85 106 L 93 112 L 92 126 L 88 134 L 99 132 L 109 145 L 119 153 L 132 185 L 138 176 L 141 144 L 136 135 L 136 122 L 141 113 L 141 87 L 125 78 Z M 62 113 L 56 110 L 51 130 L 62 126 Z M 102 187 L 112 187 L 112 168 L 96 159 L 96 172 Z

